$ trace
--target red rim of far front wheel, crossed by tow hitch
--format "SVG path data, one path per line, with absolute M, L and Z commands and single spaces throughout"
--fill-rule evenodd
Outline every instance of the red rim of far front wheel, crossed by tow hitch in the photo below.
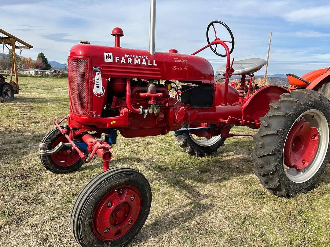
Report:
M 51 146 L 51 149 L 55 148 L 60 142 L 68 143 L 68 140 L 64 135 L 59 137 Z M 73 150 L 59 151 L 53 155 L 50 155 L 50 157 L 56 165 L 62 167 L 72 166 L 80 159 L 79 153 Z

